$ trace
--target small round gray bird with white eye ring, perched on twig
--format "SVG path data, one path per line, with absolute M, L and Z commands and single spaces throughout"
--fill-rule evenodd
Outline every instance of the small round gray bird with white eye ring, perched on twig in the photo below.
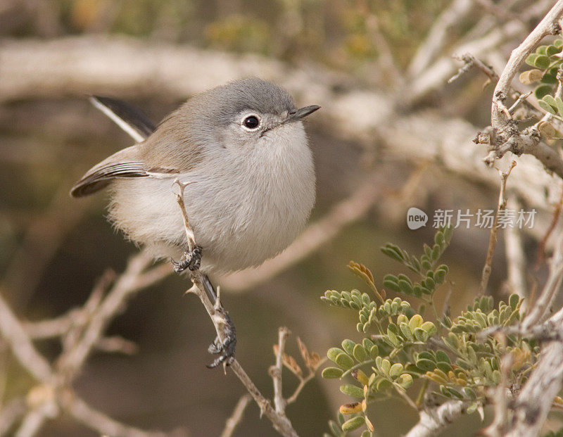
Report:
M 301 120 L 319 106 L 296 109 L 287 91 L 255 77 L 192 97 L 156 129 L 127 103 L 92 101 L 137 144 L 92 167 L 70 193 L 109 186 L 110 220 L 156 257 L 187 247 L 176 179 L 191 182 L 184 202 L 204 272 L 260 265 L 303 229 L 315 168 Z

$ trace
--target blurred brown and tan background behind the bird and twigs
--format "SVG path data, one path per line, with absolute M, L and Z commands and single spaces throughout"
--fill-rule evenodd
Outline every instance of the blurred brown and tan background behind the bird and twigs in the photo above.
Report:
M 434 210 L 495 209 L 500 178 L 472 143 L 489 124 L 493 85 L 471 70 L 453 84 L 454 53 L 483 58 L 500 72 L 552 2 L 489 0 L 0 0 L 0 291 L 21 319 L 58 317 L 84 305 L 103 272 L 120 274 L 138 252 L 106 222 L 107 195 L 72 199 L 72 184 L 92 165 L 132 144 L 93 108 L 89 94 L 115 96 L 158 122 L 191 94 L 257 75 L 284 85 L 298 104 L 323 108 L 308 119 L 322 223 L 278 264 L 214 278 L 236 324 L 236 357 L 271 397 L 277 329 L 321 356 L 342 338 L 359 341 L 355 312 L 320 301 L 327 289 L 362 283 L 346 265 L 367 265 L 376 283 L 404 273 L 379 247 L 412 253 L 434 236 Z M 500 37 L 498 37 L 500 35 Z M 502 163 L 501 163 L 502 165 Z M 512 182 L 514 180 L 514 182 Z M 524 285 L 538 241 L 561 194 L 558 179 L 523 158 L 507 186 L 517 205 L 536 208 L 534 229 L 518 235 Z M 406 212 L 429 213 L 412 231 Z M 519 209 L 519 208 L 518 208 Z M 308 231 L 305 231 L 308 232 Z M 460 227 L 443 257 L 455 315 L 479 289 L 489 230 Z M 281 255 L 284 257 L 284 255 Z M 505 238 L 500 234 L 488 292 L 506 296 Z M 205 368 L 215 336 L 201 304 L 184 296 L 184 277 L 167 275 L 134 295 L 108 327 L 136 345 L 132 355 L 94 352 L 73 384 L 84 400 L 121 422 L 178 435 L 216 436 L 243 387 L 230 372 Z M 391 296 L 393 297 L 393 296 Z M 413 305 L 418 305 L 415 300 Z M 55 360 L 58 340 L 40 341 Z M 30 374 L 0 343 L 0 402 L 25 395 Z M 296 379 L 284 373 L 289 395 Z M 338 381 L 317 376 L 287 414 L 302 436 L 328 431 L 348 400 Z M 0 406 L 1 408 L 1 406 Z M 379 436 L 400 436 L 417 414 L 400 401 L 375 405 Z M 490 412 L 486 412 L 486 418 Z M 559 417 L 553 418 L 557 424 Z M 471 436 L 477 414 L 445 435 Z M 555 426 L 555 425 L 554 425 Z M 40 436 L 93 436 L 62 415 Z M 251 404 L 236 436 L 277 435 Z

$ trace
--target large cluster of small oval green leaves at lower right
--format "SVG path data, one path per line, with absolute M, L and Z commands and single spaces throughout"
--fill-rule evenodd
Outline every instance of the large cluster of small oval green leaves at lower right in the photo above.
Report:
M 506 354 L 513 355 L 509 384 L 520 386 L 536 362 L 538 347 L 533 341 L 506 334 L 500 339 L 495 329 L 516 324 L 521 319 L 522 300 L 511 295 L 495 306 L 491 296 L 476 298 L 467 310 L 455 318 L 439 315 L 434 305 L 434 293 L 445 282 L 448 267 L 438 260 L 452 237 L 451 227 L 436 233 L 432 246 L 424 245 L 420 256 L 410 255 L 391 243 L 381 251 L 418 275 L 413 281 L 405 274 L 386 275 L 384 288 L 377 289 L 367 267 L 350 262 L 350 270 L 365 279 L 375 296 L 358 290 L 324 293 L 321 299 L 329 305 L 358 311 L 356 328 L 363 338 L 341 342 L 330 348 L 327 357 L 331 365 L 322 376 L 327 379 L 348 379 L 342 393 L 352 398 L 340 408 L 338 422 L 331 422 L 334 436 L 346 435 L 352 429 L 366 426 L 362 436 L 372 435 L 369 405 L 393 396 L 410 398 L 415 381 L 422 399 L 425 391 L 443 399 L 463 400 L 467 411 L 474 412 L 486 402 L 486 390 L 500 381 L 500 362 Z M 403 298 L 387 298 L 386 291 L 424 300 L 418 310 Z M 424 316 L 424 308 L 434 312 L 434 320 Z M 486 333 L 483 330 L 487 329 Z M 348 417 L 348 419 L 346 419 Z

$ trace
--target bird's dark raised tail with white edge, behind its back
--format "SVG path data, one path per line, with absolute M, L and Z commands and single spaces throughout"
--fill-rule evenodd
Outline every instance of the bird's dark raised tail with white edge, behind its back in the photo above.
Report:
M 137 143 L 147 139 L 156 130 L 156 126 L 146 118 L 146 115 L 125 101 L 111 97 L 90 96 L 90 102 L 127 132 Z

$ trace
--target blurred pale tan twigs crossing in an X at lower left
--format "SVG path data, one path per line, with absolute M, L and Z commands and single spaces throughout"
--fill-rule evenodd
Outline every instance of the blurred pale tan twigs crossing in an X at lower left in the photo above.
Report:
M 80 401 L 78 404 L 73 403 L 72 400 L 77 398 L 74 393 L 72 393 L 72 389 L 69 388 L 70 383 L 83 367 L 92 348 L 96 346 L 106 346 L 107 348 L 109 346 L 112 350 L 116 348 L 121 351 L 131 350 L 131 343 L 123 341 L 121 338 L 104 338 L 103 331 L 109 320 L 120 312 L 126 298 L 138 292 L 143 286 L 148 286 L 153 283 L 153 281 L 162 277 L 162 275 L 151 274 L 150 270 L 147 272 L 148 277 L 143 277 L 144 267 L 146 267 L 149 262 L 151 262 L 151 257 L 146 253 L 140 253 L 135 256 L 129 260 L 125 272 L 120 276 L 118 281 L 115 282 L 106 298 L 101 300 L 103 290 L 111 279 L 107 275 L 106 279 L 102 279 L 96 287 L 94 287 L 94 291 L 91 293 L 90 298 L 84 306 L 80 308 L 80 310 L 74 310 L 74 312 L 68 314 L 68 317 L 70 317 L 71 314 L 77 317 L 74 321 L 67 317 L 61 317 L 51 324 L 49 327 L 51 332 L 49 332 L 49 334 L 53 334 L 53 331 L 60 331 L 61 325 L 68 327 L 69 332 L 76 331 L 76 333 L 72 333 L 72 335 L 70 335 L 69 332 L 62 333 L 63 336 L 68 338 L 65 339 L 66 348 L 58 359 L 56 372 L 53 372 L 49 362 L 39 354 L 32 343 L 32 339 L 25 325 L 15 317 L 0 295 L 0 334 L 6 339 L 6 343 L 11 347 L 14 356 L 18 359 L 20 364 L 41 383 L 32 387 L 30 392 L 27 393 L 25 410 L 17 410 L 15 412 L 17 414 L 14 413 L 13 419 L 10 419 L 11 422 L 8 426 L 11 426 L 13 420 L 23 417 L 18 430 L 15 431 L 15 436 L 34 436 L 39 432 L 47 419 L 57 417 L 61 414 L 61 410 L 68 412 L 66 409 L 70 410 L 70 408 L 78 408 L 77 411 L 79 413 L 75 415 L 76 419 L 80 422 L 84 419 L 82 423 L 102 433 L 142 437 L 155 435 L 154 433 L 145 433 L 144 431 L 134 429 L 130 426 L 119 424 L 119 422 L 115 422 L 113 419 L 106 417 L 105 414 L 96 412 L 96 410 L 93 410 L 83 401 Z M 28 324 L 27 328 L 30 326 L 32 325 Z M 39 338 L 46 337 L 45 334 L 41 335 L 37 333 L 37 325 L 30 329 L 30 331 L 34 330 L 34 334 L 37 334 Z M 77 335 L 79 331 L 80 335 Z M 111 344 L 108 344 L 108 342 Z M 105 425 L 96 427 L 94 422 L 96 422 L 97 419 L 93 419 L 94 422 L 88 422 L 87 417 L 80 415 L 80 411 L 90 412 L 91 418 L 96 419 L 97 417 L 97 419 L 104 419 L 105 422 L 98 421 L 98 424 L 100 426 Z M 109 426 L 111 424 L 118 427 L 112 428 Z M 6 424 L 3 424 L 3 426 L 4 425 Z M 101 431 L 101 429 L 105 431 Z M 114 433 L 110 431 L 112 429 L 117 429 L 118 432 Z M 9 429 L 6 429 L 5 431 L 8 430 Z M 163 434 L 158 433 L 156 435 L 162 436 Z

